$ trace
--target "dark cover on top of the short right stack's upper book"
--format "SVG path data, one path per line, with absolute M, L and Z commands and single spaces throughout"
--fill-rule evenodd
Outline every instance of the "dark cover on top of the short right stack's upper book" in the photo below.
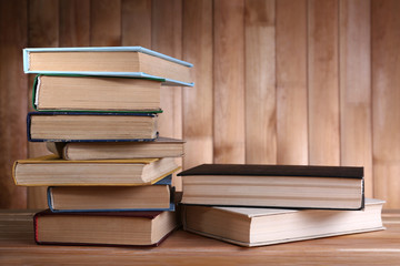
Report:
M 258 175 L 363 178 L 363 167 L 271 164 L 201 164 L 178 175 Z

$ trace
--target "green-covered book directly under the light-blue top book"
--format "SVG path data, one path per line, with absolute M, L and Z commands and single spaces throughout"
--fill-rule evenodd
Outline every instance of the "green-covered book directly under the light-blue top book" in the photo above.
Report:
M 161 81 L 39 74 L 32 103 L 37 111 L 161 112 Z

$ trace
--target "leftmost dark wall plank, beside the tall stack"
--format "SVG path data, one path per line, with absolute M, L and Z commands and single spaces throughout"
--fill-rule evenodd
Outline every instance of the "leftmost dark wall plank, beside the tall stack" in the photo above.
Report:
M 0 1 L 0 208 L 27 207 L 27 188 L 17 187 L 11 175 L 13 162 L 28 155 L 28 76 L 22 71 L 27 9 L 26 0 Z

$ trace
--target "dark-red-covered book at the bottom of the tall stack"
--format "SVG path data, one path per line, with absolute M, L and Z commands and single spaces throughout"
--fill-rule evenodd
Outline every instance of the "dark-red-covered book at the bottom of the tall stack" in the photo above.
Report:
M 42 245 L 158 246 L 177 228 L 174 212 L 51 213 L 33 217 Z

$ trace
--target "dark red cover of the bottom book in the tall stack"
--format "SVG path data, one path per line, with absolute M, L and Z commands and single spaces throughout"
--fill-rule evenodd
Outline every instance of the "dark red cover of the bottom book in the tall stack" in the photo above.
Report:
M 33 216 L 33 231 L 34 231 L 34 242 L 38 245 L 62 245 L 62 246 L 136 246 L 136 247 L 156 247 L 159 246 L 164 239 L 168 238 L 169 235 L 173 233 L 174 229 L 178 228 L 178 225 L 174 229 L 169 232 L 166 236 L 163 236 L 159 242 L 152 244 L 152 245 L 119 245 L 119 244 L 102 244 L 102 243 L 66 243 L 66 242 L 41 242 L 39 241 L 39 233 L 38 233 L 38 218 L 42 216 L 48 215 L 58 215 L 58 216 L 120 216 L 120 217 L 144 217 L 149 219 L 156 218 L 158 215 L 160 215 L 162 212 L 74 212 L 74 213 L 52 213 L 50 209 L 44 209 L 42 212 L 37 213 Z

